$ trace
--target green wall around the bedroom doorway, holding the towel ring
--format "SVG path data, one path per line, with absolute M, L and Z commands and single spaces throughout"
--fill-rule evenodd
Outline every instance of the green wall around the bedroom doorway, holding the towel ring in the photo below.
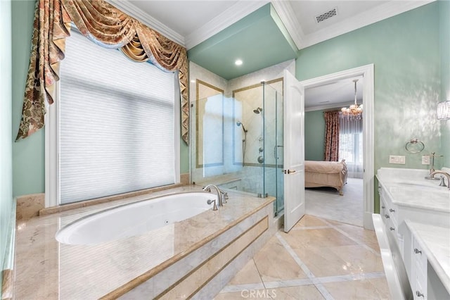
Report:
M 297 78 L 310 78 L 373 63 L 375 66 L 375 170 L 428 168 L 404 146 L 411 138 L 424 153 L 440 151 L 439 3 L 435 2 L 299 51 Z M 406 156 L 390 165 L 389 155 Z

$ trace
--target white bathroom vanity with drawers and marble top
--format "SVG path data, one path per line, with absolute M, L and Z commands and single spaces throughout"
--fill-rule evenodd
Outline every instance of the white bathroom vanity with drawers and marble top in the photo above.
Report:
M 428 170 L 380 168 L 380 215 L 414 299 L 450 299 L 450 190 L 425 176 Z

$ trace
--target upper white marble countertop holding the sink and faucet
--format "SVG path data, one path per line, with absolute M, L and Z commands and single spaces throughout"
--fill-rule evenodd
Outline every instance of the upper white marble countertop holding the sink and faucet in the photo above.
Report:
M 450 189 L 437 180 L 425 180 L 428 170 L 381 168 L 377 178 L 392 203 L 450 213 Z

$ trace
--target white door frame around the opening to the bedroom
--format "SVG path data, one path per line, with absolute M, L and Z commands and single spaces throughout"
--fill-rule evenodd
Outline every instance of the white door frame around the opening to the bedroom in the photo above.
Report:
M 362 65 L 361 67 L 343 70 L 340 72 L 323 75 L 309 80 L 303 80 L 300 83 L 304 89 L 309 87 L 319 87 L 338 80 L 363 76 L 363 151 L 364 151 L 364 176 L 363 176 L 363 225 L 364 228 L 373 230 L 372 213 L 374 212 L 374 188 L 375 188 L 375 166 L 374 166 L 374 74 L 373 63 Z

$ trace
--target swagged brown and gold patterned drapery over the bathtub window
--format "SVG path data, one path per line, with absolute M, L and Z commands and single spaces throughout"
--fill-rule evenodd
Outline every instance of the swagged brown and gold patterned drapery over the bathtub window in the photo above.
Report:
M 100 46 L 122 50 L 134 61 L 150 60 L 163 70 L 178 71 L 181 92 L 181 137 L 188 144 L 188 60 L 172 42 L 103 0 L 38 0 L 22 119 L 16 140 L 44 127 L 45 102 L 53 104 L 59 63 L 64 58 L 70 22 Z

